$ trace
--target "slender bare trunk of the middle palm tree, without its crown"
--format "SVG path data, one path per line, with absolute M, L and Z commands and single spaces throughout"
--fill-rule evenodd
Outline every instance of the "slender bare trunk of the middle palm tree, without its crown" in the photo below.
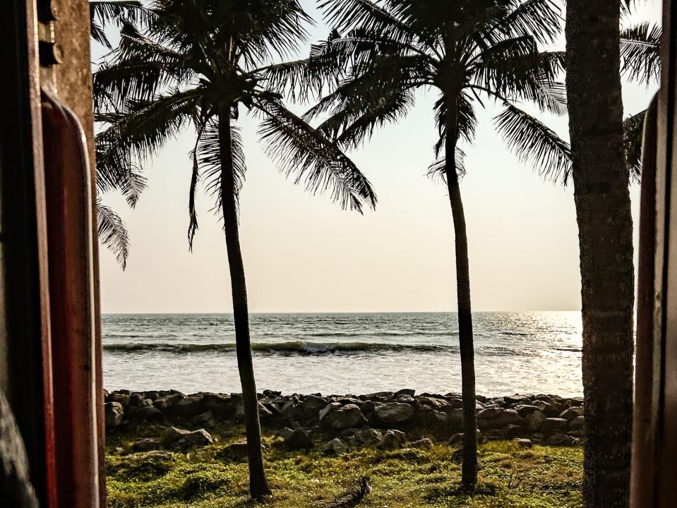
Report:
M 463 464 L 461 481 L 465 487 L 477 483 L 477 421 L 475 418 L 475 364 L 470 311 L 470 269 L 465 213 L 456 170 L 458 140 L 455 104 L 448 106 L 445 138 L 445 174 L 454 220 L 456 248 L 456 292 L 458 298 L 458 341 L 461 353 L 461 392 L 463 402 Z

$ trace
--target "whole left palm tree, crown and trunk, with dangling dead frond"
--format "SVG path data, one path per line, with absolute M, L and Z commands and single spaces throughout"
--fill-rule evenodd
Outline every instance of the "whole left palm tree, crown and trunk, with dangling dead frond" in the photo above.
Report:
M 249 340 L 247 291 L 239 243 L 238 195 L 245 161 L 236 121 L 242 109 L 260 118 L 259 134 L 282 171 L 311 193 L 328 191 L 361 211 L 376 197 L 369 181 L 330 140 L 282 104 L 261 66 L 306 39 L 310 21 L 296 0 L 157 0 L 146 30 L 126 23 L 116 58 L 95 74 L 95 90 L 123 114 L 102 133 L 102 157 L 148 159 L 188 125 L 196 130 L 188 197 L 188 244 L 198 229 L 200 178 L 223 220 L 233 298 L 236 356 L 244 399 L 252 497 L 270 492 L 261 452 L 258 401 Z M 114 164 L 112 164 L 114 165 Z

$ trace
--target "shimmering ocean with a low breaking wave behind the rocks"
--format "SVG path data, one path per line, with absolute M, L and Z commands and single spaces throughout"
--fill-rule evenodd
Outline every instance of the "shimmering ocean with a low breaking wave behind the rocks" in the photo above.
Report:
M 582 395 L 579 312 L 474 313 L 477 393 Z M 455 313 L 250 316 L 258 391 L 460 392 Z M 231 314 L 102 317 L 104 387 L 240 392 Z

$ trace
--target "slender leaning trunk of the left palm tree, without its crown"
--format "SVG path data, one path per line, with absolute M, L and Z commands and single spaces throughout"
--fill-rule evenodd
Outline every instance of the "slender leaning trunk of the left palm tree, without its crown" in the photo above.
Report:
M 237 368 L 244 399 L 244 424 L 247 435 L 249 462 L 249 492 L 259 499 L 270 494 L 263 468 L 261 450 L 261 428 L 258 419 L 256 381 L 251 361 L 249 341 L 249 314 L 247 309 L 247 286 L 244 278 L 244 263 L 240 250 L 237 198 L 233 169 L 232 131 L 230 107 L 225 105 L 219 112 L 219 147 L 221 157 L 221 202 L 223 207 L 223 229 L 226 235 L 230 284 L 233 294 L 233 317 L 235 322 L 235 350 Z

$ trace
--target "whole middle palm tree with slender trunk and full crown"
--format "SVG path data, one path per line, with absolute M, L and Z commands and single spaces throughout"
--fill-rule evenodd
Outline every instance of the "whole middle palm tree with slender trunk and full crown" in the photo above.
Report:
M 558 8 L 549 0 L 324 0 L 321 8 L 334 26 L 328 40 L 304 63 L 270 73 L 277 87 L 290 90 L 317 92 L 328 82 L 338 84 L 306 115 L 329 115 L 318 131 L 342 147 L 357 147 L 376 127 L 405 116 L 417 90 L 432 88 L 439 94 L 434 111 L 439 158 L 430 170 L 443 174 L 455 231 L 462 483 L 472 486 L 477 483 L 474 349 L 458 143 L 472 141 L 475 107 L 484 105 L 484 97 L 503 104 L 496 129 L 517 155 L 551 176 L 568 168 L 568 145 L 516 104 L 527 100 L 565 113 L 563 85 L 554 81 L 563 54 L 541 53 L 537 47 L 558 33 Z

